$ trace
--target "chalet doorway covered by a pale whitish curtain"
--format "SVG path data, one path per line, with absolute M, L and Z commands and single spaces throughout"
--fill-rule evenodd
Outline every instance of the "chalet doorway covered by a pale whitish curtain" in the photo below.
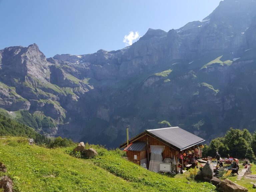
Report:
M 150 146 L 150 162 L 149 162 L 149 168 L 148 170 L 159 172 L 159 163 L 163 162 L 162 153 L 164 151 L 165 146 L 156 146 L 151 145 Z

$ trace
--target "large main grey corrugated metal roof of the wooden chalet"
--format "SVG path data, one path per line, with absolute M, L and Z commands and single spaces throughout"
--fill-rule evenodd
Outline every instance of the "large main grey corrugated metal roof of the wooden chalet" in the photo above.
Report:
M 147 130 L 150 134 L 164 140 L 167 143 L 184 150 L 188 147 L 194 146 L 198 143 L 205 141 L 203 138 L 198 137 L 179 127 L 168 127 L 162 129 Z

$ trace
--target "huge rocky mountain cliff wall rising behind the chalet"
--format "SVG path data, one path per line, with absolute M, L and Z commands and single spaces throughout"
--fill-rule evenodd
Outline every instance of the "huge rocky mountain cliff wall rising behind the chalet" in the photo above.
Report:
M 205 139 L 254 131 L 255 10 L 255 0 L 224 0 L 201 22 L 149 29 L 117 51 L 46 59 L 36 44 L 5 48 L 0 107 L 18 119 L 28 110 L 48 136 L 110 147 L 126 126 L 135 136 L 169 122 Z

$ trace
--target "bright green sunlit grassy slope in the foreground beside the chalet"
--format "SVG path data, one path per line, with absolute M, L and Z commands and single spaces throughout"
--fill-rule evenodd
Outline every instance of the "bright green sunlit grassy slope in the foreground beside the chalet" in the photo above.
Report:
M 22 137 L 0 138 L 0 161 L 13 179 L 14 191 L 215 191 L 209 183 L 149 172 L 122 159 L 120 150 L 94 147 L 95 159 L 77 159 L 68 155 L 75 146 L 46 149 L 30 146 Z M 3 173 L 0 173 L 0 176 Z

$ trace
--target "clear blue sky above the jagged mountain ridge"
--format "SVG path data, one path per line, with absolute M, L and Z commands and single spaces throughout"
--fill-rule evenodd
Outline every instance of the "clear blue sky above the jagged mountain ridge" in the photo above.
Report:
M 190 21 L 201 21 L 219 2 L 0 0 L 0 49 L 36 43 L 46 57 L 118 50 L 129 44 L 123 40 L 131 31 L 138 37 L 148 28 L 178 29 Z

